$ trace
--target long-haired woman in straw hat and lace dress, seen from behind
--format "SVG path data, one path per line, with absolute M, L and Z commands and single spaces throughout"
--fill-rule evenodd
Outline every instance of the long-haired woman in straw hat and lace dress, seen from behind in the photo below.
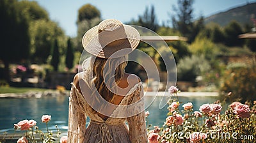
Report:
M 139 77 L 124 72 L 127 54 L 139 42 L 136 29 L 113 19 L 84 34 L 92 57 L 72 83 L 68 142 L 147 142 L 143 87 Z

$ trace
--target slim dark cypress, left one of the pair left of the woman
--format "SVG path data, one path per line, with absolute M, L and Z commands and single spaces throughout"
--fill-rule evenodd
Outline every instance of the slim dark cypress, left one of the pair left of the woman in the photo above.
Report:
M 51 61 L 54 71 L 58 71 L 59 63 L 60 63 L 60 52 L 59 52 L 58 40 L 54 40 L 52 61 Z

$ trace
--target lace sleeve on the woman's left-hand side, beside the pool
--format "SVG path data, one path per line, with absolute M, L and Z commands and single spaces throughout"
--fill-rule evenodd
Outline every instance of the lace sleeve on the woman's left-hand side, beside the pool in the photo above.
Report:
M 86 130 L 86 114 L 81 105 L 81 94 L 72 84 L 68 107 L 68 142 L 83 142 Z

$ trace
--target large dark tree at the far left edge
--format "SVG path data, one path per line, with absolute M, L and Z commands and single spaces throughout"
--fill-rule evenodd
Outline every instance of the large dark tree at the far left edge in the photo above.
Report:
M 29 22 L 26 12 L 16 0 L 0 1 L 0 59 L 4 63 L 4 77 L 10 81 L 9 64 L 28 59 L 30 48 Z

